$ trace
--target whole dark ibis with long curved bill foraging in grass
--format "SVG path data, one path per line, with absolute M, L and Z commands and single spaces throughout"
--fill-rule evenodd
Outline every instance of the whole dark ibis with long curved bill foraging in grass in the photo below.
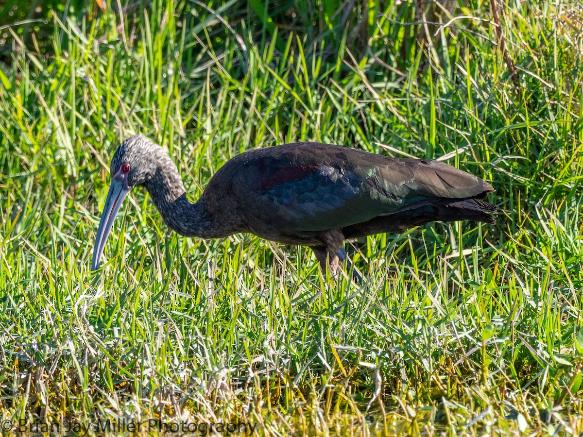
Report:
M 186 237 L 251 232 L 309 246 L 322 269 L 346 259 L 345 239 L 402 232 L 430 221 L 494 223 L 494 189 L 440 161 L 391 158 L 349 147 L 293 143 L 246 151 L 210 179 L 198 202 L 185 194 L 166 151 L 141 135 L 111 160 L 111 186 L 97 230 L 92 269 L 125 196 L 142 185 L 169 228 Z

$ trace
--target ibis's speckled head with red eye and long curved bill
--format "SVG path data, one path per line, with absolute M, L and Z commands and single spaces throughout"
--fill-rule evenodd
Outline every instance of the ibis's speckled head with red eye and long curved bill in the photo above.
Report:
M 168 157 L 162 147 L 142 135 L 134 135 L 124 140 L 115 151 L 110 165 L 111 185 L 93 248 L 92 270 L 99 268 L 107 237 L 125 196 L 135 186 L 147 185 L 157 172 L 160 157 L 164 156 Z

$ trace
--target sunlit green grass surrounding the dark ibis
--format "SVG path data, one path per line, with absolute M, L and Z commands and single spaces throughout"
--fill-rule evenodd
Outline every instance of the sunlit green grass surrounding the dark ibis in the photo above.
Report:
M 500 11 L 519 89 L 488 2 L 114 3 L 59 9 L 42 44 L 2 30 L 0 419 L 583 431 L 578 3 Z M 357 286 L 305 248 L 178 237 L 135 190 L 95 275 L 109 160 L 135 132 L 191 199 L 244 150 L 315 140 L 444 159 L 501 213 L 354 242 Z

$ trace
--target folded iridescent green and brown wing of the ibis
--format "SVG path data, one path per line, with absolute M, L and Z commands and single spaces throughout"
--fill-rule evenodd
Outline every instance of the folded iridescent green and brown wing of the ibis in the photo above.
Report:
M 482 179 L 440 161 L 317 143 L 271 149 L 241 155 L 248 157 L 248 170 L 240 183 L 255 181 L 250 195 L 257 210 L 273 212 L 299 230 L 343 228 L 444 199 L 484 198 L 493 191 Z

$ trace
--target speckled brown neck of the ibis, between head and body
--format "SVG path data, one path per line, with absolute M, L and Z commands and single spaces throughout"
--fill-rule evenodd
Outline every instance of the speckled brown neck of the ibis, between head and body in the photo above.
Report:
M 206 237 L 209 217 L 202 200 L 189 202 L 174 162 L 162 159 L 145 187 L 169 228 L 186 237 Z

